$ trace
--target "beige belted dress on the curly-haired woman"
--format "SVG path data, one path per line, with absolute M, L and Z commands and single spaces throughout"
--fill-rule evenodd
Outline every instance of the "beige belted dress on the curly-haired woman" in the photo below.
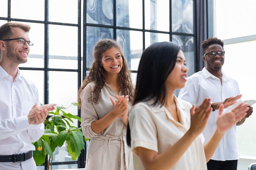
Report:
M 88 84 L 80 96 L 83 135 L 90 139 L 85 170 L 133 170 L 132 152 L 126 143 L 127 127 L 120 118 L 99 134 L 91 129 L 93 121 L 101 119 L 113 109 L 110 96 L 116 99 L 115 91 L 105 84 L 99 95 L 99 103 L 88 102 L 94 86 L 94 82 Z

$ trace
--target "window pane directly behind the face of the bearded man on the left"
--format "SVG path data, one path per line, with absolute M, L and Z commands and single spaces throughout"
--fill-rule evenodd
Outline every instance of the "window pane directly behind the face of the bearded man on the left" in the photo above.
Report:
M 28 60 L 24 64 L 20 64 L 21 67 L 44 67 L 44 24 L 37 24 L 31 22 L 22 22 L 31 26 L 29 31 L 29 39 L 34 43 L 33 46 L 29 46 L 30 51 Z

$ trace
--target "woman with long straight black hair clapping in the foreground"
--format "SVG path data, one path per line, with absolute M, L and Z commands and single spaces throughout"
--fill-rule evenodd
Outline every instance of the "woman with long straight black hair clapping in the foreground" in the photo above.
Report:
M 140 158 L 135 167 L 207 170 L 222 136 L 246 115 L 247 104 L 240 103 L 225 115 L 221 105 L 215 133 L 203 146 L 201 133 L 212 110 L 211 99 L 205 98 L 195 110 L 195 105 L 174 95 L 184 87 L 187 71 L 182 50 L 172 42 L 152 44 L 142 53 L 127 132 L 128 145 Z

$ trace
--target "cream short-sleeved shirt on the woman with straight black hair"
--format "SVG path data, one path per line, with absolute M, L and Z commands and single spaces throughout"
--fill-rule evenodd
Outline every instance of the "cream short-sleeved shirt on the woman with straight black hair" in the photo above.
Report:
M 175 97 L 181 123 L 175 121 L 164 106 L 151 106 L 152 102 L 153 100 L 138 103 L 129 113 L 131 148 L 135 155 L 137 155 L 137 147 L 154 150 L 158 154 L 163 153 L 173 146 L 190 127 L 192 106 L 188 102 Z M 201 134 L 170 170 L 207 170 L 203 142 L 204 138 Z M 142 167 L 140 160 L 134 159 L 134 162 L 135 168 Z M 141 168 L 135 170 L 141 170 Z

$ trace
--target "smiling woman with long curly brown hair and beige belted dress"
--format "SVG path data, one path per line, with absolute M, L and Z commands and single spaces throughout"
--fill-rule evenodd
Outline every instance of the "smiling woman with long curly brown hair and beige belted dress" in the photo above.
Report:
M 134 87 L 128 64 L 110 39 L 95 44 L 93 58 L 78 94 L 83 134 L 90 139 L 85 170 L 132 170 L 126 129 Z

